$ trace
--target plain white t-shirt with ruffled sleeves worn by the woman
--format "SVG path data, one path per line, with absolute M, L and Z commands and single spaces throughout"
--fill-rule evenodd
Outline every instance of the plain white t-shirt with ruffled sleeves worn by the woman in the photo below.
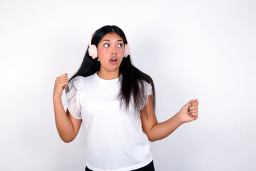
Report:
M 145 81 L 144 81 L 145 82 Z M 135 170 L 153 160 L 148 136 L 142 130 L 133 100 L 126 111 L 117 98 L 121 89 L 118 78 L 105 80 L 97 73 L 76 76 L 68 83 L 67 106 L 73 118 L 82 119 L 86 138 L 86 166 L 93 171 Z M 152 95 L 145 82 L 145 100 Z

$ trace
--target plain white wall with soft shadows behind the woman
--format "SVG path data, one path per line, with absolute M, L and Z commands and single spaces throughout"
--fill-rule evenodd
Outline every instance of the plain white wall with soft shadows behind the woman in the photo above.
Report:
M 0 170 L 84 170 L 83 130 L 68 144 L 58 137 L 53 86 L 106 24 L 123 29 L 134 65 L 153 78 L 158 122 L 200 102 L 198 120 L 150 142 L 155 170 L 256 170 L 255 9 L 253 0 L 0 0 Z

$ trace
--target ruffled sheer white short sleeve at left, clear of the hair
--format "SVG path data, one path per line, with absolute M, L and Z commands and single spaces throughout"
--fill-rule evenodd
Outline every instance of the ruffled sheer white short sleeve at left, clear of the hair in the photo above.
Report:
M 66 93 L 66 105 L 68 111 L 73 118 L 82 119 L 81 117 L 81 105 L 79 95 L 81 94 L 81 86 L 83 83 L 83 76 L 76 76 L 68 83 L 69 91 Z

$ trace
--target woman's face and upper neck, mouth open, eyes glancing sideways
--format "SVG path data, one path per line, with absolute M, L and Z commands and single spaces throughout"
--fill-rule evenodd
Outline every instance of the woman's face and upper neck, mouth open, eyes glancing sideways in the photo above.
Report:
M 119 72 L 125 52 L 123 39 L 117 33 L 107 33 L 98 43 L 101 72 Z

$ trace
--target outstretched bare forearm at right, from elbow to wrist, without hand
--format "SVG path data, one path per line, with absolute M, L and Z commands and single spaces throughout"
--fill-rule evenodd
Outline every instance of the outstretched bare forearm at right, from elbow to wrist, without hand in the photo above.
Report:
M 182 123 L 176 118 L 176 115 L 174 115 L 169 120 L 166 120 L 163 123 L 157 123 L 153 126 L 153 128 L 150 130 L 150 141 L 155 140 L 161 140 L 163 138 L 166 138 L 168 135 L 173 133 L 174 130 L 176 130 Z

